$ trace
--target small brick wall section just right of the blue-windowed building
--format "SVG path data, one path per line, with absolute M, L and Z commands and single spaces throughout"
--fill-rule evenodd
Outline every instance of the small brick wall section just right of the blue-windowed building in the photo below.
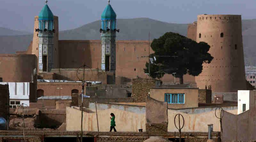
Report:
M 211 103 L 212 102 L 212 90 L 199 89 L 198 90 L 198 103 Z

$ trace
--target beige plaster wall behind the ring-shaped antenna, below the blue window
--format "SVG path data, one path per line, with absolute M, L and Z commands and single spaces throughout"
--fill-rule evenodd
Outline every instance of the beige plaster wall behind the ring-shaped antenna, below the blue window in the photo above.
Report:
M 230 113 L 236 113 L 237 109 L 229 110 Z M 225 113 L 225 112 L 224 112 Z M 168 109 L 168 131 L 178 131 L 174 125 L 174 117 L 181 114 L 184 117 L 184 128 L 181 131 L 186 132 L 207 132 L 208 124 L 213 124 L 213 131 L 220 131 L 220 120 L 215 117 L 215 111 L 186 114 L 176 110 Z M 177 121 L 178 124 L 178 121 Z

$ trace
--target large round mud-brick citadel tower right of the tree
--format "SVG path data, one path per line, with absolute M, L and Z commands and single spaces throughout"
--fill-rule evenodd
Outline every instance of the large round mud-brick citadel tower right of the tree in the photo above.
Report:
M 213 92 L 246 89 L 241 15 L 198 15 L 196 41 L 208 43 L 214 57 L 196 77 L 199 88 L 211 85 Z

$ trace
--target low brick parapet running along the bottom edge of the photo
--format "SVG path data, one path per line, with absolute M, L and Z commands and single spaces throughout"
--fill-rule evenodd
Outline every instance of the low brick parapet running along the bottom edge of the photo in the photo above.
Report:
M 166 124 L 163 124 L 165 127 Z M 80 136 L 80 131 L 26 131 L 27 142 L 41 142 L 44 136 L 47 137 L 76 137 Z M 84 137 L 94 137 L 97 142 L 143 142 L 150 136 L 162 136 L 163 138 L 178 138 L 178 132 L 164 132 L 160 134 L 148 134 L 147 132 L 95 132 L 84 131 Z M 22 131 L 0 131 L 0 142 L 7 139 L 22 139 Z M 185 141 L 206 142 L 207 132 L 182 132 L 181 138 Z M 213 140 L 220 136 L 220 132 L 213 132 Z

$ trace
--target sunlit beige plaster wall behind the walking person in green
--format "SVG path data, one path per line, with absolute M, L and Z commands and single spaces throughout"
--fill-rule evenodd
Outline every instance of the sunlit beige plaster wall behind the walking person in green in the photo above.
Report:
M 138 131 L 146 130 L 145 114 L 137 114 L 115 108 L 98 110 L 99 131 L 109 131 L 110 129 L 110 113 L 116 116 L 116 131 Z M 76 108 L 66 108 L 66 131 L 81 130 L 81 111 Z M 83 113 L 83 130 L 98 131 L 96 113 Z

